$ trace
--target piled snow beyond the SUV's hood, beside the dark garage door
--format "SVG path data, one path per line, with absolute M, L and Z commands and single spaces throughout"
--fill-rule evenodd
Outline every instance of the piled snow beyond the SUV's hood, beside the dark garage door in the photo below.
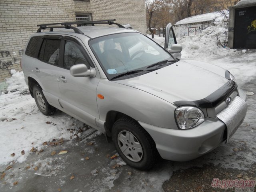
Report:
M 182 45 L 182 59 L 193 59 L 214 64 L 229 70 L 242 86 L 256 75 L 256 53 L 250 50 L 236 50 L 223 47 L 227 40 L 228 29 L 224 22 L 225 17 L 219 15 L 214 26 L 204 29 L 199 35 L 190 35 L 177 38 L 177 43 Z M 151 38 L 151 35 L 148 34 Z M 154 41 L 164 47 L 164 38 L 154 36 Z M 247 53 L 246 53 L 247 52 Z M 245 55 L 246 53 L 246 55 Z

